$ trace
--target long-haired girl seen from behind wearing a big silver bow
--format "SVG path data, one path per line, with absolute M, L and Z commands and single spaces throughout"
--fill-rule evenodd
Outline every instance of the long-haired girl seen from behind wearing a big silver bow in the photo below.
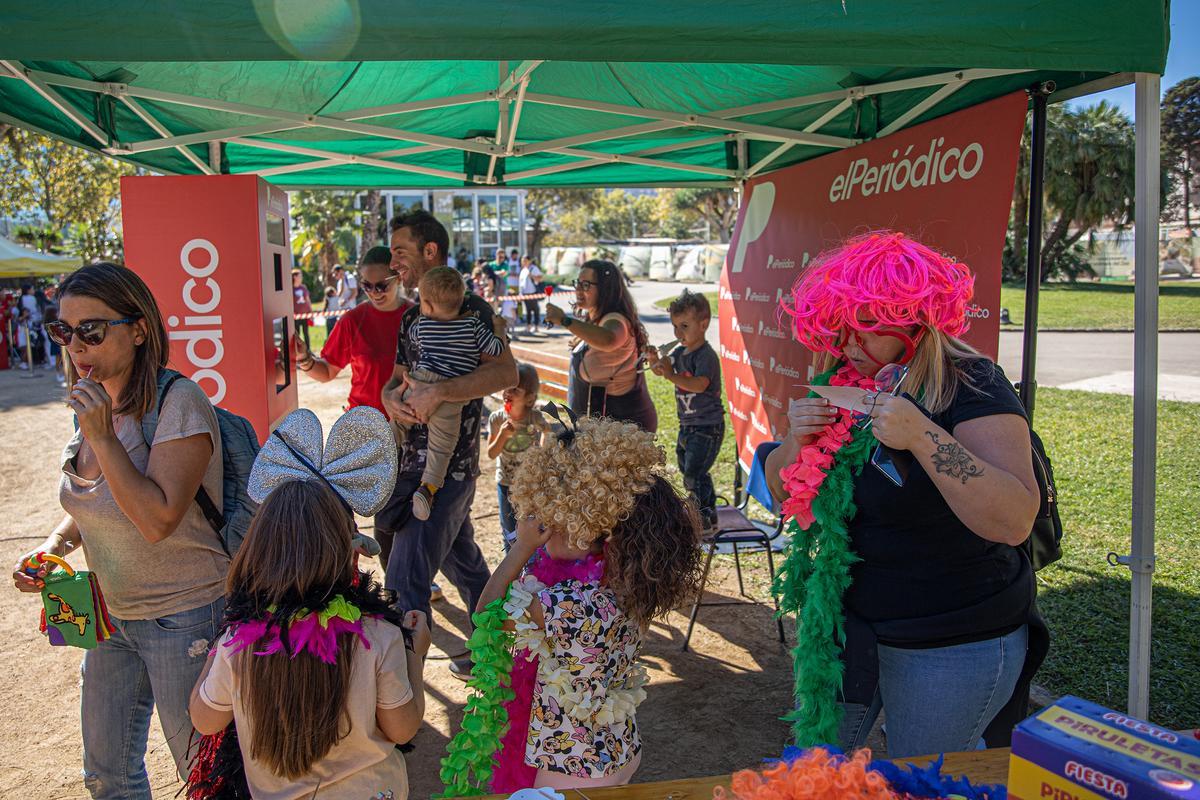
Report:
M 202 734 L 235 723 L 254 798 L 408 796 L 404 759 L 425 710 L 420 612 L 403 619 L 355 561 L 354 512 L 391 493 L 396 450 L 382 414 L 360 407 L 322 446 L 311 411 L 290 414 L 254 462 L 262 500 L 229 570 L 226 631 L 191 698 Z M 226 765 L 216 771 L 227 774 Z M 193 772 L 190 798 L 214 771 Z

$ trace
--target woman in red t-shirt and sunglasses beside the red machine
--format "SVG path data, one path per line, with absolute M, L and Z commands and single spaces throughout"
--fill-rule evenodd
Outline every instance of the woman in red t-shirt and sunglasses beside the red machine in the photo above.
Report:
M 350 395 L 346 409 L 370 405 L 382 411 L 383 386 L 396 366 L 396 342 L 400 324 L 409 303 L 401 294 L 400 276 L 391 271 L 391 251 L 372 247 L 359 264 L 359 288 L 367 302 L 359 303 L 338 320 L 320 355 L 313 355 L 296 341 L 296 368 L 319 383 L 329 383 L 350 368 Z M 379 542 L 379 563 L 386 567 L 391 553 L 391 534 L 376 530 Z

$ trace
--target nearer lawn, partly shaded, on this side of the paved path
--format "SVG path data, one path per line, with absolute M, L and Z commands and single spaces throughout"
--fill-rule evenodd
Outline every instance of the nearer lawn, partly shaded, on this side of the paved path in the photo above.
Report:
M 656 375 L 649 375 L 649 387 L 659 409 L 659 439 L 673 465 L 678 432 L 673 387 Z M 1162 402 L 1158 409 L 1151 720 L 1175 729 L 1196 728 L 1200 443 L 1195 429 L 1200 405 Z M 1078 694 L 1122 709 L 1128 684 L 1129 572 L 1110 567 L 1105 555 L 1129 552 L 1133 398 L 1042 389 L 1036 421 L 1054 462 L 1066 529 L 1062 561 L 1038 573 L 1038 602 L 1054 639 L 1036 680 L 1054 694 Z M 733 463 L 733 437 L 726 429 L 713 475 L 719 493 L 732 493 Z M 764 559 L 743 557 L 746 563 L 754 564 L 745 571 L 748 590 L 766 597 Z

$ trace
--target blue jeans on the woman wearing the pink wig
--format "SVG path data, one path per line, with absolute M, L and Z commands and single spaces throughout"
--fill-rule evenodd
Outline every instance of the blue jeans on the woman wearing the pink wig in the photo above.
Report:
M 984 728 L 1013 696 L 1030 628 L 924 650 L 878 645 L 880 687 L 869 705 L 842 703 L 838 739 L 862 747 L 882 708 L 888 758 L 983 747 Z

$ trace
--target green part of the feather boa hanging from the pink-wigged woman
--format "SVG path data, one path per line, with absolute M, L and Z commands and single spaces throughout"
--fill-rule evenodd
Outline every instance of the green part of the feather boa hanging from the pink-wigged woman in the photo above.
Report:
M 840 365 L 839 365 L 840 367 Z M 838 367 L 812 379 L 828 385 Z M 816 397 L 816 393 L 810 393 Z M 838 744 L 841 723 L 841 648 L 846 634 L 842 595 L 850 587 L 850 566 L 858 557 L 850 549 L 847 524 L 856 513 L 854 479 L 862 474 L 875 446 L 875 435 L 856 429 L 834 455 L 821 491 L 812 500 L 816 518 L 808 530 L 788 523 L 791 547 L 775 577 L 780 613 L 796 614 L 796 708 L 785 720 L 792 723 L 798 747 Z

